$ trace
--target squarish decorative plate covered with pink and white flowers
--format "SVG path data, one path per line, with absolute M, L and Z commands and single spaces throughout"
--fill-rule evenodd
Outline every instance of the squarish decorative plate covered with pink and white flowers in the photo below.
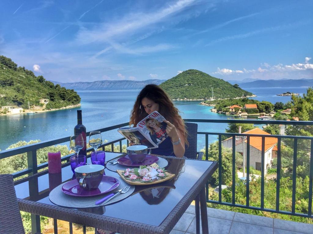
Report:
M 131 185 L 162 183 L 175 176 L 175 174 L 168 173 L 164 168 L 160 168 L 156 163 L 153 163 L 150 166 L 140 166 L 139 168 L 117 170 L 116 172 L 126 183 Z

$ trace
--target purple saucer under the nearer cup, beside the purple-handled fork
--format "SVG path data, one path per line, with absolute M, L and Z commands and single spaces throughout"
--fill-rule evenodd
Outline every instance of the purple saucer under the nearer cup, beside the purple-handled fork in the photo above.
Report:
M 111 176 L 103 176 L 97 189 L 84 190 L 80 188 L 77 179 L 71 180 L 62 186 L 62 192 L 75 197 L 95 197 L 103 193 L 108 193 L 120 185 L 120 181 Z

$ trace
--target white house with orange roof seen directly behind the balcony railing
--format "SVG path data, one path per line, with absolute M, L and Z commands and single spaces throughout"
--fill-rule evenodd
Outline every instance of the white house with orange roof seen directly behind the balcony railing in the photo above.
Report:
M 269 133 L 255 128 L 249 131 L 244 132 L 243 134 L 259 134 L 259 135 L 270 135 Z M 267 173 L 267 168 L 272 166 L 272 158 L 273 158 L 273 149 L 277 144 L 277 138 L 265 137 L 264 144 L 264 173 Z M 222 141 L 224 147 L 232 149 L 232 138 L 228 138 Z M 244 149 L 244 150 L 243 150 Z M 247 139 L 239 139 L 235 141 L 235 151 L 240 154 L 247 155 Z M 249 166 L 253 167 L 257 170 L 261 170 L 261 162 L 262 162 L 262 137 L 250 137 L 250 163 Z M 247 158 L 245 157 L 245 166 L 247 165 Z

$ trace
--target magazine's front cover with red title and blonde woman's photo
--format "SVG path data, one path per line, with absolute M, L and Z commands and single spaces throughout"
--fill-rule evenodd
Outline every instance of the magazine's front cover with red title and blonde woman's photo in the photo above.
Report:
M 146 118 L 141 120 L 137 127 L 146 136 L 151 139 L 156 145 L 161 144 L 167 138 L 166 126 L 167 123 L 163 122 L 165 118 L 157 111 L 152 112 Z

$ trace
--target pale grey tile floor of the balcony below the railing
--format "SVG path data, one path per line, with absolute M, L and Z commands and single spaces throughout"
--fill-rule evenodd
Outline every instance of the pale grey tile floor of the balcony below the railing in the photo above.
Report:
M 285 221 L 213 208 L 207 208 L 207 211 L 210 234 L 313 234 L 313 224 Z M 195 233 L 195 207 L 194 205 L 190 205 L 170 234 Z

